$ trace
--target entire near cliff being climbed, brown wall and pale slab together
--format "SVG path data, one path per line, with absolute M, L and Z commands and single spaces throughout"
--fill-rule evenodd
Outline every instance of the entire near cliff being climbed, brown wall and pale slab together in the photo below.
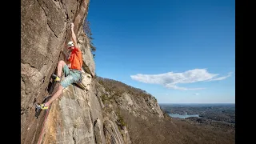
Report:
M 82 30 L 88 4 L 89 0 L 21 2 L 21 143 L 106 143 L 102 108 L 91 86 L 94 59 Z M 43 97 L 54 92 L 50 75 L 58 61 L 64 60 L 60 50 L 65 50 L 70 41 L 70 22 L 74 22 L 83 53 L 86 90 L 77 85 L 63 90 L 50 106 L 44 126 L 46 111 L 35 118 L 34 100 L 42 102 Z

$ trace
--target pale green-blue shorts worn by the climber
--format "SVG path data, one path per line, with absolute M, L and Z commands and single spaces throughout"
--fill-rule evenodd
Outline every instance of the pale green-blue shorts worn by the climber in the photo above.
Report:
M 65 79 L 61 82 L 61 85 L 66 88 L 70 86 L 72 83 L 79 82 L 82 78 L 82 73 L 80 70 L 72 70 L 69 69 L 67 65 L 63 67 L 63 73 L 65 75 Z

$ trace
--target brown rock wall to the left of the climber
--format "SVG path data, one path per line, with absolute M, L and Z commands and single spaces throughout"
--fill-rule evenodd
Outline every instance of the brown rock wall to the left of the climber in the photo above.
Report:
M 50 75 L 67 38 L 67 20 L 74 18 L 76 6 L 76 1 L 69 5 L 62 1 L 21 1 L 22 143 L 35 143 L 39 137 L 43 118 L 34 119 L 33 102 L 42 101 L 50 91 Z

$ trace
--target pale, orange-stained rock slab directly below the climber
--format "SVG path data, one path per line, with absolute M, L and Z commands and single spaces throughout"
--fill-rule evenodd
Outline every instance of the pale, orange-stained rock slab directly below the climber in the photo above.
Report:
M 46 143 L 95 143 L 89 97 L 78 86 L 68 86 L 63 90 L 62 98 L 50 108 Z

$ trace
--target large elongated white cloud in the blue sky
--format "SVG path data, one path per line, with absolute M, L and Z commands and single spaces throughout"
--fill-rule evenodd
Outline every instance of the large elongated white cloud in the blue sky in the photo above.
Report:
M 202 90 L 205 88 L 186 88 L 179 87 L 177 84 L 193 83 L 193 82 L 209 82 L 220 81 L 231 76 L 229 73 L 226 76 L 218 77 L 219 74 L 210 74 L 206 69 L 187 70 L 183 73 L 165 73 L 165 74 L 136 74 L 130 77 L 138 82 L 151 84 L 159 84 L 174 90 Z

